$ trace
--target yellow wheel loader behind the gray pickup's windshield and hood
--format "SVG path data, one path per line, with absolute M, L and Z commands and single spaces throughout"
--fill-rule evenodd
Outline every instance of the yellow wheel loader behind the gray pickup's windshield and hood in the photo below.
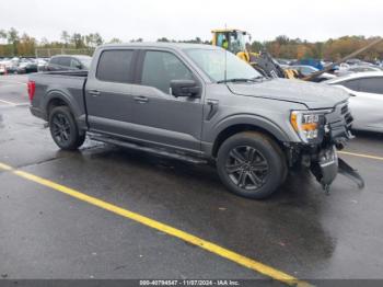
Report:
M 272 78 L 301 78 L 297 70 L 283 70 L 266 50 L 260 50 L 259 53 L 252 51 L 252 35 L 246 31 L 237 28 L 218 28 L 211 31 L 211 33 L 213 46 L 219 46 L 233 53 L 252 65 L 252 67 L 262 74 Z

